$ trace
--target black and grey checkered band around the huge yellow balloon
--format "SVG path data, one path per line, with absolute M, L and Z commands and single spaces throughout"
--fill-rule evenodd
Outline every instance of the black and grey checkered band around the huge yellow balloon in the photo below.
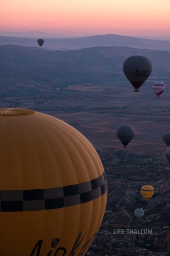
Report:
M 107 190 L 105 172 L 94 180 L 65 187 L 0 191 L 0 212 L 58 209 L 90 202 Z

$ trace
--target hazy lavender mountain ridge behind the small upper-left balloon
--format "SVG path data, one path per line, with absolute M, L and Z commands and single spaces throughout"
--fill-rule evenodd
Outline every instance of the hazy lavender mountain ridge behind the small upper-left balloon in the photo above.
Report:
M 28 47 L 39 47 L 37 38 L 0 36 L 0 45 L 16 44 Z M 44 49 L 48 50 L 77 50 L 87 47 L 124 46 L 138 49 L 167 50 L 170 51 L 170 42 L 149 40 L 132 36 L 102 35 L 77 38 L 45 38 Z

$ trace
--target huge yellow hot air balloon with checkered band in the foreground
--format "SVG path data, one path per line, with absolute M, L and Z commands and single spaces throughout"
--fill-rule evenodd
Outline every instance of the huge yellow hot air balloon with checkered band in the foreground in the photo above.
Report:
M 0 109 L 0 256 L 84 256 L 106 208 L 103 165 L 63 121 Z

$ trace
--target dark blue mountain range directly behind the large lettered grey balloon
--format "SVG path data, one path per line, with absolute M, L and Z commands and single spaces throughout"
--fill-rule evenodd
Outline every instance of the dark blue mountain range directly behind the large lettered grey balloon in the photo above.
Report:
M 78 83 L 127 81 L 122 65 L 131 55 L 148 57 L 150 80 L 170 81 L 170 52 L 130 47 L 93 47 L 51 51 L 14 45 L 0 46 L 0 81 L 11 84 L 50 83 L 60 87 Z

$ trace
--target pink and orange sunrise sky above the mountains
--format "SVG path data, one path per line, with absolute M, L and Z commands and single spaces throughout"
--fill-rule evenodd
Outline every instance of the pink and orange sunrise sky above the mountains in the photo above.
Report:
M 0 0 L 0 31 L 170 36 L 170 0 Z

